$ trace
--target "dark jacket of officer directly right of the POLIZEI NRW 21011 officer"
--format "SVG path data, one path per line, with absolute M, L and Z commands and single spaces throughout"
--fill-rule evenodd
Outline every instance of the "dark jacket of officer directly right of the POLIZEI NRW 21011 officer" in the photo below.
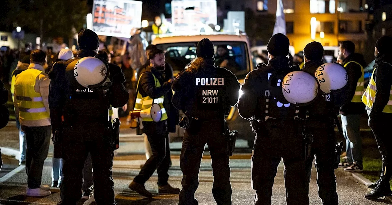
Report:
M 256 117 L 258 119 L 264 119 L 265 117 L 265 102 L 266 102 L 266 91 L 268 87 L 268 73 L 274 73 L 276 71 L 283 71 L 284 73 L 290 73 L 291 71 L 299 70 L 299 66 L 289 66 L 289 59 L 287 57 L 274 57 L 271 59 L 267 66 L 258 66 L 258 69 L 251 71 L 245 78 L 244 84 L 242 85 L 242 96 L 238 101 L 238 112 L 242 118 L 249 119 Z M 283 76 L 284 77 L 284 76 Z M 282 79 L 283 79 L 282 77 Z M 270 91 L 271 95 L 276 94 L 283 95 L 281 86 L 276 86 L 276 91 Z M 278 93 L 280 92 L 280 93 Z M 277 99 L 269 99 L 269 110 L 275 111 L 279 120 L 291 120 L 294 122 L 295 106 L 290 105 L 289 107 L 281 105 Z M 272 116 L 271 116 L 272 117 Z M 276 118 L 276 116 L 274 116 Z

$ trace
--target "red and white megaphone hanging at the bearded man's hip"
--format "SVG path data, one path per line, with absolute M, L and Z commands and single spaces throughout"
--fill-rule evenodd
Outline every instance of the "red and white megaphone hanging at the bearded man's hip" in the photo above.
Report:
M 161 121 L 162 110 L 158 104 L 154 103 L 150 108 L 138 111 L 131 111 L 129 112 L 129 115 L 131 116 L 131 128 L 136 128 L 139 126 L 137 118 L 152 119 L 152 121 L 154 122 Z

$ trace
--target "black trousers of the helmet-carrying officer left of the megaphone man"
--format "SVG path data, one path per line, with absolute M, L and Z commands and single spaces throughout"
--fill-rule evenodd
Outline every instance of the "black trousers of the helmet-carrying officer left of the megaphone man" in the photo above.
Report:
M 82 198 L 83 167 L 91 154 L 94 199 L 98 205 L 116 205 L 112 177 L 114 149 L 104 126 L 74 126 L 63 129 L 63 174 L 58 205 L 75 205 Z

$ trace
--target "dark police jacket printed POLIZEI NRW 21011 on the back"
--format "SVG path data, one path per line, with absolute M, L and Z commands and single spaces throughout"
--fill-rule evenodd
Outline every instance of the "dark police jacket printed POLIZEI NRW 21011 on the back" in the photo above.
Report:
M 176 76 L 172 86 L 174 91 L 172 102 L 178 110 L 186 112 L 187 116 L 220 119 L 223 115 L 228 115 L 229 108 L 238 102 L 240 83 L 231 71 L 226 68 L 215 67 L 213 59 L 205 59 L 205 61 L 208 61 L 206 66 L 199 68 L 197 72 L 185 69 Z M 220 86 L 198 86 L 195 82 L 196 78 L 223 78 L 224 83 Z M 201 89 L 220 90 L 224 93 L 221 96 L 224 102 L 214 103 L 208 109 L 207 107 L 202 108 L 201 99 L 199 99 L 200 94 L 198 93 Z M 215 107 L 212 108 L 213 106 Z

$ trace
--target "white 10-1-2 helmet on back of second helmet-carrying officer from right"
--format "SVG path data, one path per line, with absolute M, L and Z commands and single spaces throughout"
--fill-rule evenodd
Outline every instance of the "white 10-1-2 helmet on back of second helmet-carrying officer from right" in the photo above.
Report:
M 305 71 L 293 71 L 283 78 L 282 92 L 286 100 L 293 104 L 312 102 L 318 93 L 316 79 Z

